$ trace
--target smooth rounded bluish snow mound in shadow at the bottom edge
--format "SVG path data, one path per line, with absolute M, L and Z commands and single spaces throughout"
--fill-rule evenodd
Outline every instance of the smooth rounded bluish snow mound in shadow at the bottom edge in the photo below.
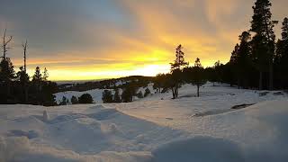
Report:
M 242 162 L 241 149 L 227 139 L 194 137 L 174 141 L 152 152 L 154 161 L 161 162 Z

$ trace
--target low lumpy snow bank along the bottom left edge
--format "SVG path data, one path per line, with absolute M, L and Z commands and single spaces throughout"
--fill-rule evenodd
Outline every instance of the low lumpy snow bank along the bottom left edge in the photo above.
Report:
M 104 151 L 97 155 L 81 155 L 71 150 L 51 148 L 49 146 L 34 146 L 25 137 L 0 137 L 1 162 L 148 162 L 151 159 L 149 152 L 113 152 Z

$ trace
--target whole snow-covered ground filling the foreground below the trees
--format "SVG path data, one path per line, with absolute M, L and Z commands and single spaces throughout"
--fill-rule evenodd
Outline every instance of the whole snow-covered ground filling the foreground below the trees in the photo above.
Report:
M 288 159 L 287 94 L 211 84 L 200 98 L 193 85 L 179 93 L 134 103 L 0 105 L 0 161 Z M 231 109 L 243 103 L 256 104 Z

